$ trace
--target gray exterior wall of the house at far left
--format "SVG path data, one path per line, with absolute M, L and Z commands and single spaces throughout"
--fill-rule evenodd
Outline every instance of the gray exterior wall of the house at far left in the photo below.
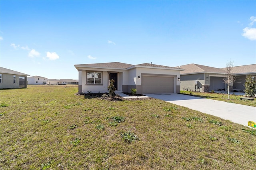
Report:
M 2 74 L 2 83 L 0 83 L 0 89 L 15 89 L 15 88 L 20 88 L 20 76 L 16 75 L 16 83 L 13 83 L 13 74 L 6 74 L 6 73 L 1 73 Z M 25 82 L 26 82 L 26 76 L 21 76 L 25 77 Z M 27 85 L 25 85 L 25 88 Z M 24 87 L 22 87 L 24 88 Z

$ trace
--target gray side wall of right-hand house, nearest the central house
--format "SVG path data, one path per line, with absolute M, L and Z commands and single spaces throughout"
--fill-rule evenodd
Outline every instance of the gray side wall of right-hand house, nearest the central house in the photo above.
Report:
M 180 90 L 202 92 L 205 85 L 204 79 L 204 73 L 180 75 Z M 197 84 L 195 81 L 197 81 Z

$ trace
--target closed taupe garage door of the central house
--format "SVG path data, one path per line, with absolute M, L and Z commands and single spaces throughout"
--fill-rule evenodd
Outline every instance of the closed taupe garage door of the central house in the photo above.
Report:
M 142 75 L 142 94 L 174 93 L 174 77 Z

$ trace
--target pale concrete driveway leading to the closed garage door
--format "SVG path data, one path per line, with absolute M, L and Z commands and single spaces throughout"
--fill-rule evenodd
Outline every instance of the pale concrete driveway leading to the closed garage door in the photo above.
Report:
M 246 127 L 248 127 L 248 121 L 256 122 L 256 107 L 252 106 L 173 93 L 145 95 L 176 105 L 188 107 L 189 109 L 200 111 L 202 113 L 214 115 L 222 119 L 230 120 Z

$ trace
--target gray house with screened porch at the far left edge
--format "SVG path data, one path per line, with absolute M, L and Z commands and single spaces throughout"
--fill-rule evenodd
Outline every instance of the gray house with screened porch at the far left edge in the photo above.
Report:
M 0 89 L 27 88 L 28 74 L 0 67 Z

